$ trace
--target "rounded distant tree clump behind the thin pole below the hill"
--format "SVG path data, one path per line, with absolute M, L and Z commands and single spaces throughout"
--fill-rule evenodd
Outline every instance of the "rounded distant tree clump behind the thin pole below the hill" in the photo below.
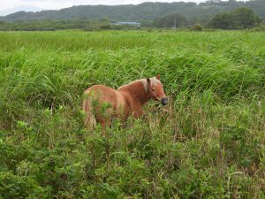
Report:
M 172 14 L 167 14 L 161 18 L 156 19 L 155 27 L 166 27 L 166 28 L 182 27 L 186 25 L 186 21 L 187 19 L 183 15 L 178 14 L 178 13 L 172 13 Z

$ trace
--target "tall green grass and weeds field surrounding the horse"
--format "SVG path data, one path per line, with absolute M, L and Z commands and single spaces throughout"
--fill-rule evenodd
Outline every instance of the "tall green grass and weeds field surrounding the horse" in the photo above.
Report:
M 265 33 L 0 32 L 0 198 L 264 198 Z M 83 91 L 170 104 L 83 127 Z

